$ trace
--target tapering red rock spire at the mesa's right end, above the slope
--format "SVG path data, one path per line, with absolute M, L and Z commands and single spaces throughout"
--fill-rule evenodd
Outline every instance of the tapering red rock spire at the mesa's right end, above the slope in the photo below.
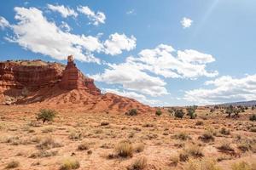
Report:
M 65 71 L 63 71 L 60 88 L 67 90 L 84 89 L 89 94 L 101 94 L 100 89 L 96 88 L 94 80 L 89 77 L 84 77 L 81 71 L 76 67 L 72 55 L 67 57 L 67 66 Z

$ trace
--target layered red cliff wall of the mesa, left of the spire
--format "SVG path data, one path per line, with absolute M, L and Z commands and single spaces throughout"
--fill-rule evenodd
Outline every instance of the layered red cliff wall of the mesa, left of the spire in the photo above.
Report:
M 38 61 L 1 62 L 0 87 L 2 88 L 44 88 L 54 85 L 61 78 L 61 67 L 57 64 L 34 65 Z M 23 65 L 26 63 L 26 65 Z

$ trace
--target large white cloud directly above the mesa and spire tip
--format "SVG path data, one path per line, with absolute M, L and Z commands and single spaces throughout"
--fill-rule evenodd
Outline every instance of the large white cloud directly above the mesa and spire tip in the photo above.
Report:
M 44 18 L 38 8 L 15 7 L 15 12 L 15 20 L 19 22 L 12 26 L 15 36 L 7 38 L 10 42 L 55 59 L 66 59 L 67 55 L 73 54 L 81 61 L 100 62 L 91 54 L 102 50 L 102 43 L 97 37 L 61 31 L 54 22 Z

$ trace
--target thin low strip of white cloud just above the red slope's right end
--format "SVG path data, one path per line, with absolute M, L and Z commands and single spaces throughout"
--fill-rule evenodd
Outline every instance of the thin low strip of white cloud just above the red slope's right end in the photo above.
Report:
M 119 89 L 112 89 L 112 88 L 104 88 L 104 91 L 108 92 L 108 93 L 113 93 L 113 94 L 118 94 L 120 96 L 125 96 L 127 98 L 131 98 L 131 99 L 137 99 L 139 102 L 142 102 L 143 104 L 147 104 L 147 105 L 157 105 L 160 103 L 159 100 L 155 100 L 155 99 L 147 99 L 146 96 L 144 96 L 143 94 L 137 94 L 135 92 L 131 92 L 131 91 L 125 91 L 125 90 L 119 90 Z

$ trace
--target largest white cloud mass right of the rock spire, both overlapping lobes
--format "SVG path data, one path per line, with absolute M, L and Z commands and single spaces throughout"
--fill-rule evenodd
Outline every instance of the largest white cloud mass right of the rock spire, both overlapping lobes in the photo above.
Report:
M 138 93 L 161 96 L 168 94 L 166 82 L 155 75 L 193 79 L 218 75 L 218 71 L 206 71 L 206 64 L 214 61 L 212 55 L 185 50 L 174 57 L 172 54 L 175 52 L 172 46 L 166 44 L 154 49 L 143 49 L 137 57 L 127 57 L 124 63 L 118 65 L 108 64 L 102 74 L 92 77 L 99 82 L 121 84 L 122 88 Z M 184 59 L 181 59 L 182 55 L 185 55 Z

